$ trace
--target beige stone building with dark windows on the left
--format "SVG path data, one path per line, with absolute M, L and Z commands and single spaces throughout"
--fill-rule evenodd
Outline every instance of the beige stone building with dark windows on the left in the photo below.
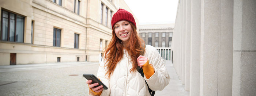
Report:
M 112 15 L 131 12 L 124 0 L 0 2 L 0 65 L 98 62 L 112 37 Z

